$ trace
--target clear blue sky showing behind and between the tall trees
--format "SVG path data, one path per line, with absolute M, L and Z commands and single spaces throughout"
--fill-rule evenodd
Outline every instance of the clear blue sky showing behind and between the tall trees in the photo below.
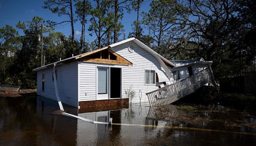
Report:
M 48 9 L 42 8 L 44 6 L 45 0 L 0 0 L 0 28 L 4 27 L 6 24 L 12 26 L 20 35 L 23 35 L 23 31 L 16 28 L 16 24 L 21 21 L 31 21 L 34 16 L 38 16 L 46 20 L 52 20 L 55 22 L 61 22 L 63 20 L 68 20 L 67 16 L 59 17 L 57 14 L 53 14 Z M 93 0 L 90 0 L 93 3 Z M 120 0 L 121 1 L 121 0 Z M 142 5 L 142 11 L 148 11 L 150 9 L 150 3 L 152 0 L 144 0 L 144 5 Z M 126 38 L 129 32 L 131 32 L 131 24 L 136 20 L 137 12 L 131 12 L 131 14 L 126 14 L 126 11 L 122 23 L 126 32 Z M 141 19 L 141 17 L 140 17 Z M 88 21 L 89 22 L 89 21 Z M 91 37 L 87 28 L 90 23 L 86 25 L 86 40 L 93 41 L 96 37 Z M 74 25 L 75 38 L 80 38 L 80 32 L 82 30 L 82 25 L 80 22 L 76 22 Z M 66 37 L 71 35 L 71 24 L 67 23 L 63 27 L 56 28 L 55 31 L 62 32 Z

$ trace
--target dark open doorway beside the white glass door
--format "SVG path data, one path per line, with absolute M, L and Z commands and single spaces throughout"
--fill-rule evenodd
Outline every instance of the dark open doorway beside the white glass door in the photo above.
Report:
M 121 98 L 121 68 L 110 68 L 110 98 Z

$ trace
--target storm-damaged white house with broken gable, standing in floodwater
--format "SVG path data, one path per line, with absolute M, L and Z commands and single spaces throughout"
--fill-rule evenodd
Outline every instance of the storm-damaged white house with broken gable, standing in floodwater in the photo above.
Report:
M 146 93 L 207 68 L 207 61 L 169 61 L 129 38 L 34 69 L 37 94 L 74 107 L 148 103 Z M 133 94 L 132 94 L 133 93 Z

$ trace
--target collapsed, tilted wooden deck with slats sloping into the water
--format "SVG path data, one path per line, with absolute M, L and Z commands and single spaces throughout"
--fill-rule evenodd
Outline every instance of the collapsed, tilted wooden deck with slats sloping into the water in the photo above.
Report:
M 167 105 L 181 99 L 214 80 L 211 67 L 174 84 L 146 93 L 150 106 Z

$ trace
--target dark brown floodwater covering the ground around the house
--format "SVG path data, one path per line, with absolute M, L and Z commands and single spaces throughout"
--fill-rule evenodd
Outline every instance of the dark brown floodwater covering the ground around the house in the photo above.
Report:
M 203 107 L 201 107 L 203 108 Z M 0 146 L 255 146 L 255 113 L 212 106 L 191 111 L 178 105 L 129 108 L 78 114 L 108 122 L 92 124 L 58 114 L 58 103 L 44 97 L 0 97 Z

